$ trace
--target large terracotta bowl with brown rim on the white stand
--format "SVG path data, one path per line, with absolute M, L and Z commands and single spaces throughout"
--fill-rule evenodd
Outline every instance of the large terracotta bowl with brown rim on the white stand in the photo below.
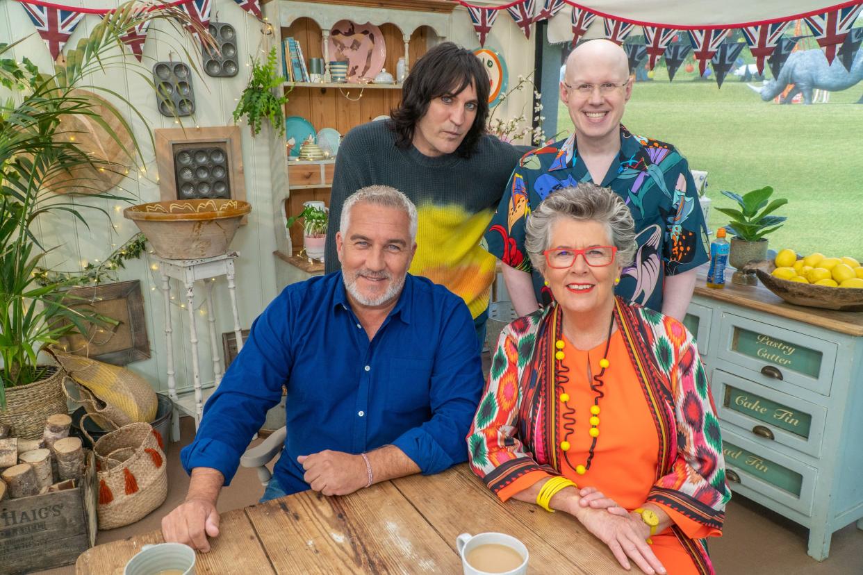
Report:
M 240 200 L 170 200 L 123 210 L 165 259 L 202 259 L 228 251 L 240 220 L 252 207 Z

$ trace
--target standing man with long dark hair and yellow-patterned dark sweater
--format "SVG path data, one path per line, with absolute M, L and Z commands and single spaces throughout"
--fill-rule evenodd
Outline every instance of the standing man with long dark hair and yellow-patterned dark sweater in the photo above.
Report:
M 336 271 L 335 238 L 346 197 L 373 184 L 403 191 L 419 211 L 410 272 L 463 298 L 481 345 L 494 256 L 480 241 L 520 156 L 485 133 L 488 91 L 480 60 L 452 42 L 417 61 L 392 118 L 352 129 L 338 148 L 325 257 L 326 271 Z

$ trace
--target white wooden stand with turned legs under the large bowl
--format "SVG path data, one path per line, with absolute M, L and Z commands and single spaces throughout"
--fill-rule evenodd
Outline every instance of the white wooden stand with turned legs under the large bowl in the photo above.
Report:
M 243 334 L 240 328 L 240 315 L 236 307 L 236 283 L 234 272 L 234 259 L 240 254 L 228 252 L 205 259 L 163 259 L 155 257 L 159 262 L 161 271 L 161 290 L 165 297 L 165 340 L 167 347 L 167 393 L 174 404 L 171 434 L 173 441 L 180 441 L 180 411 L 188 416 L 194 416 L 195 429 L 201 422 L 204 412 L 204 391 L 201 389 L 201 371 L 198 363 L 198 328 L 195 323 L 195 295 L 193 286 L 196 281 L 204 281 L 207 290 L 207 324 L 210 330 L 210 348 L 213 362 L 213 376 L 215 385 L 208 390 L 209 397 L 212 391 L 222 381 L 222 357 L 219 353 L 219 342 L 216 334 L 216 315 L 213 310 L 212 291 L 213 284 L 219 276 L 228 279 L 228 295 L 230 296 L 230 309 L 234 313 L 234 334 L 236 334 L 236 351 L 243 349 Z M 171 289 L 170 278 L 178 279 L 186 288 L 186 309 L 189 313 L 189 343 L 192 344 L 192 385 L 194 395 L 186 394 L 184 397 L 177 395 L 177 384 L 173 371 L 173 327 L 171 325 Z M 206 281 L 211 280 L 211 281 Z

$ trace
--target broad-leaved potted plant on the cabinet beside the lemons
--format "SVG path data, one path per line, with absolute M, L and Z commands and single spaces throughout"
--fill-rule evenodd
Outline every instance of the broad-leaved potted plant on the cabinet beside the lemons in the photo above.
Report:
M 767 259 L 765 235 L 781 228 L 782 222 L 787 219 L 784 216 L 771 216 L 771 214 L 788 203 L 788 200 L 783 197 L 771 201 L 773 188 L 769 185 L 746 192 L 743 196 L 733 191 L 722 191 L 722 195 L 733 199 L 739 208 L 716 208 L 717 211 L 731 218 L 731 222 L 725 226 L 733 236 L 728 262 L 739 270 L 734 272 L 732 281 L 735 284 L 754 285 L 758 283 L 754 272 L 744 273 L 740 270 L 750 261 Z

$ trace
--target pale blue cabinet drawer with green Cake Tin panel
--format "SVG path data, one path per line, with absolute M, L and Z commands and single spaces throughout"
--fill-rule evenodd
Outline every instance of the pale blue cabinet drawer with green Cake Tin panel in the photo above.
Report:
M 768 449 L 779 443 L 821 456 L 827 408 L 715 369 L 713 391 L 719 418 Z

